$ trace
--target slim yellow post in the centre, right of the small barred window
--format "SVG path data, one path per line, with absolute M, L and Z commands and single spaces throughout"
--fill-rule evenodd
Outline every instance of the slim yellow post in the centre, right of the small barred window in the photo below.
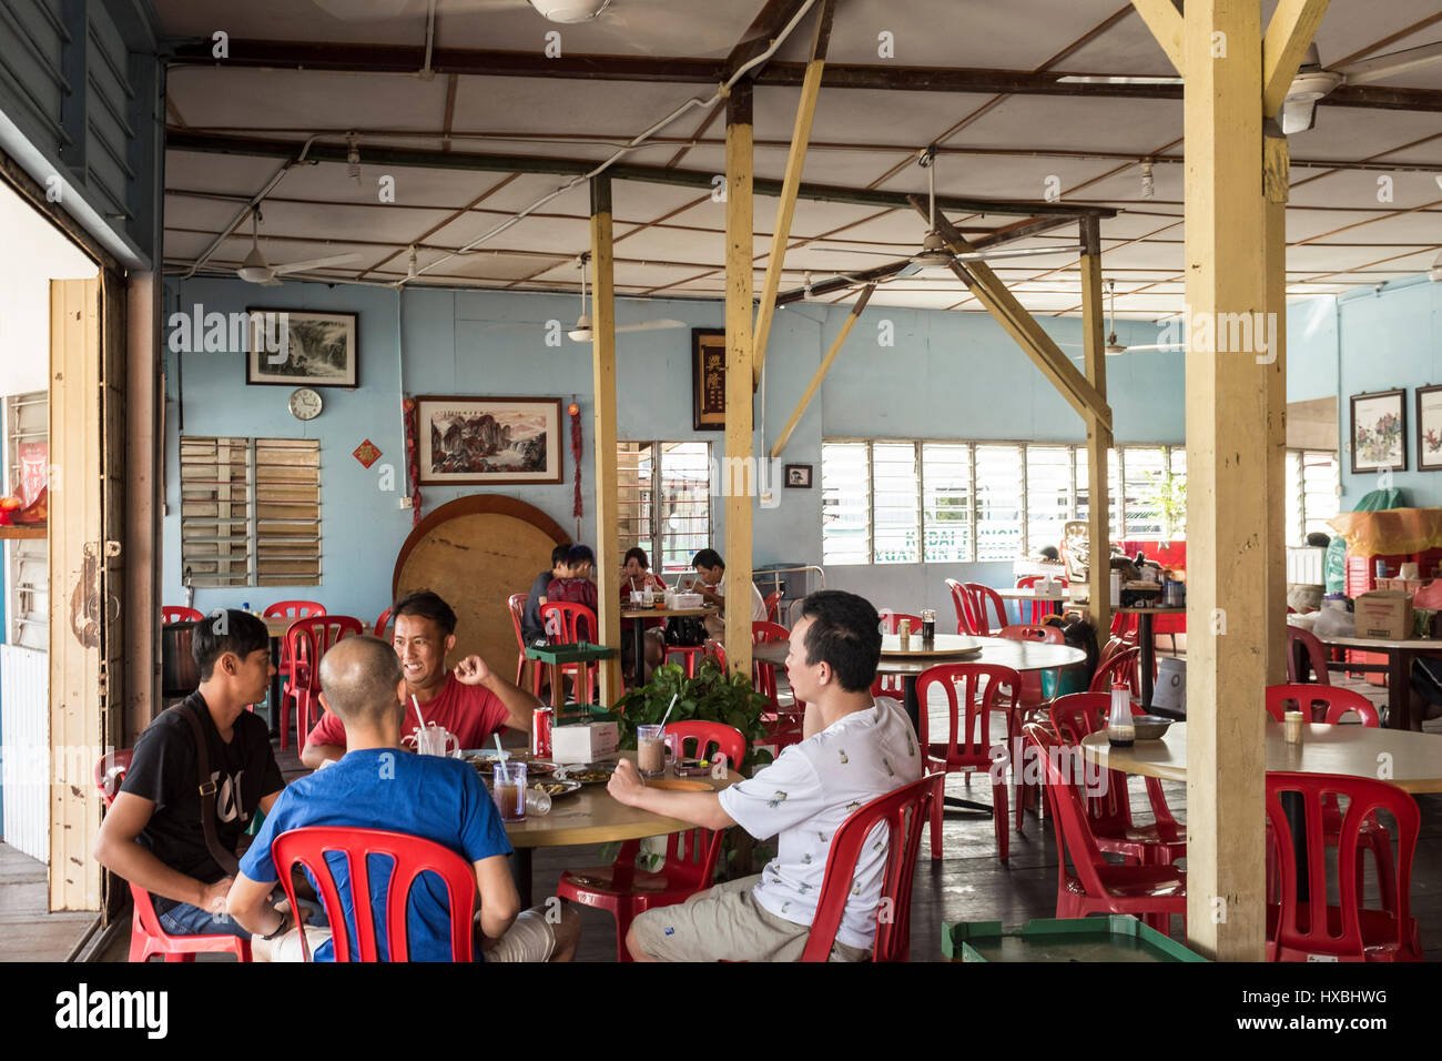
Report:
M 725 651 L 751 673 L 751 511 L 757 489 L 751 427 L 751 82 L 731 88 L 725 114 Z

